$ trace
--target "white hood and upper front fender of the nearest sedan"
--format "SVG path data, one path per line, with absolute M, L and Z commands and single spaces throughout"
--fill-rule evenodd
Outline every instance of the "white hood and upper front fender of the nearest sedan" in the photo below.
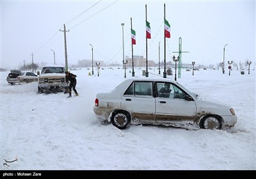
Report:
M 232 116 L 230 113 L 230 109 L 232 108 L 230 105 L 223 104 L 219 101 L 209 101 L 205 99 L 196 99 L 196 107 L 198 113 L 214 113 L 223 116 Z

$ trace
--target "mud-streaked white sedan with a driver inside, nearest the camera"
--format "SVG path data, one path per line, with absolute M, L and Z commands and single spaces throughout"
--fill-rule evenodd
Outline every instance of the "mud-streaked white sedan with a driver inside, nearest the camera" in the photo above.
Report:
M 120 129 L 131 123 L 225 129 L 237 121 L 229 105 L 202 100 L 169 79 L 127 79 L 109 93 L 98 93 L 93 111 Z

